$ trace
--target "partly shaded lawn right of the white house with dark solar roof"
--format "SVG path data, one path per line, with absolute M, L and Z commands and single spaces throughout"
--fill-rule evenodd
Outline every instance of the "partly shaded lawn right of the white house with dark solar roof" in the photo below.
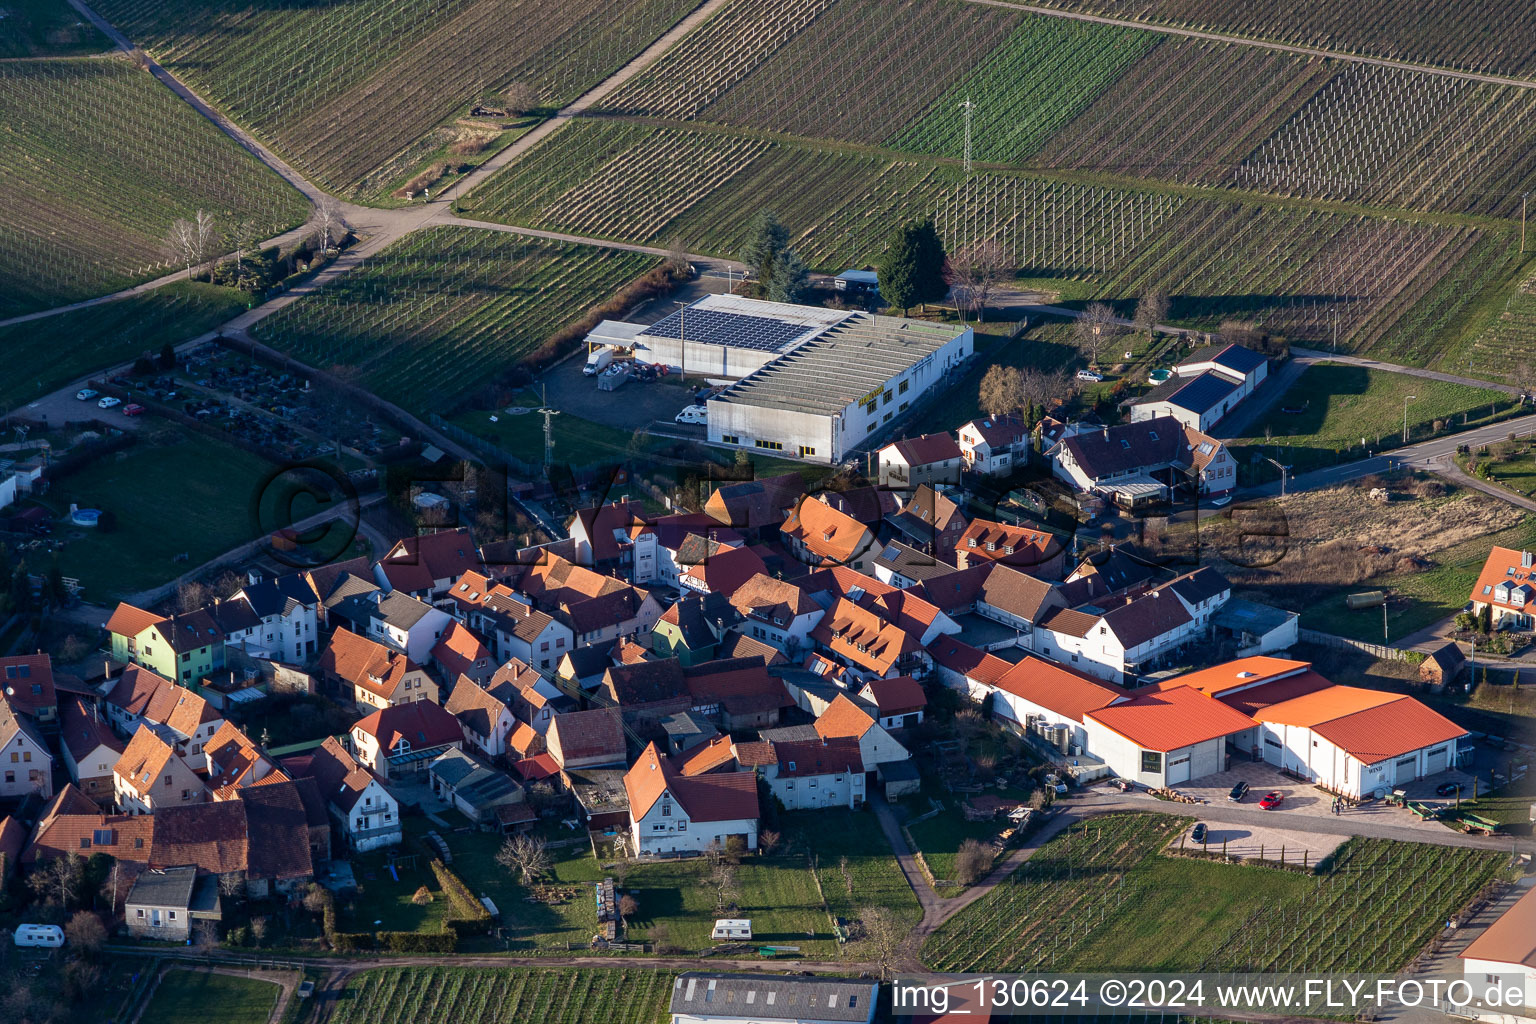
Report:
M 1303 372 L 1270 413 L 1253 427 L 1252 438 L 1232 444 L 1255 445 L 1264 454 L 1275 454 L 1270 448 L 1279 448 L 1281 454 L 1276 457 L 1303 473 L 1332 465 L 1341 453 L 1358 450 L 1362 438 L 1372 451 L 1402 444 L 1405 399 L 1410 441 L 1430 436 L 1436 421 L 1456 427 L 1464 421 L 1476 424 L 1511 404 L 1508 395 L 1488 388 L 1316 362 Z M 1301 411 L 1286 413 L 1286 408 Z M 1266 430 L 1270 431 L 1269 438 Z

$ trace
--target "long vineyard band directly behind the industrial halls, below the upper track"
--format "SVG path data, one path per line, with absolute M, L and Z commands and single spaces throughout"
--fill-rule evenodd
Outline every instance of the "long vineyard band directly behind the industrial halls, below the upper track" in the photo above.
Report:
M 634 180 L 651 187 L 637 193 Z M 476 216 L 733 255 L 771 209 L 799 252 L 837 272 L 879 256 L 889 226 L 934 216 L 954 249 L 998 241 L 1025 276 L 1092 295 L 1174 298 L 1187 324 L 1236 316 L 1304 342 L 1435 358 L 1514 272 L 1511 236 L 1473 226 L 975 172 L 720 130 L 579 121 L 468 200 Z

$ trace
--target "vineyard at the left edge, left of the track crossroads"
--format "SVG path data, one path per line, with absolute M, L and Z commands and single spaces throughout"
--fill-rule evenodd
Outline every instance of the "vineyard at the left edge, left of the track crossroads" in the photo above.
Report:
M 226 230 L 249 218 L 261 236 L 309 212 L 123 58 L 0 63 L 0 318 L 172 270 L 166 233 L 197 209 Z

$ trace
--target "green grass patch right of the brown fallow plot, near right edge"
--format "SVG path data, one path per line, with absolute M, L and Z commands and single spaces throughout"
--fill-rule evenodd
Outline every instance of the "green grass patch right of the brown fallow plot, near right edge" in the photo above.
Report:
M 1301 608 L 1301 626 L 1382 643 L 1381 608 L 1352 609 L 1347 599 L 1350 594 L 1384 590 L 1390 594 L 1387 637 L 1396 642 L 1461 611 L 1473 583 L 1478 582 L 1478 573 L 1482 571 L 1490 547 L 1519 550 L 1533 542 L 1536 542 L 1536 516 L 1528 516 L 1508 530 L 1438 551 L 1433 568 L 1376 576 L 1355 586 L 1338 586 L 1330 594 L 1315 597 Z

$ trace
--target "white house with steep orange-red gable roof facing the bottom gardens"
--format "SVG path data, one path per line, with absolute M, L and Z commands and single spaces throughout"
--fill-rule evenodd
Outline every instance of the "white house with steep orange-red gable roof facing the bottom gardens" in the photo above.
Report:
M 685 777 L 654 743 L 624 774 L 630 840 L 636 855 L 702 854 L 739 840 L 757 849 L 757 774 Z

